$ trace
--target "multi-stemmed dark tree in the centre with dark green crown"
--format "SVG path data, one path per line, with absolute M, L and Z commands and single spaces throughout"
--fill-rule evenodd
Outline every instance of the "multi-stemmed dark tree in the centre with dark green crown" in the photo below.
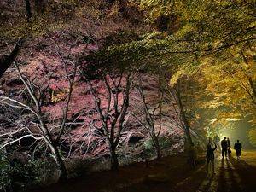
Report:
M 93 126 L 103 130 L 102 137 L 108 145 L 113 170 L 119 166 L 116 149 L 128 118 L 130 94 L 135 85 L 133 80 L 140 64 L 126 60 L 125 55 L 112 48 L 136 38 L 133 32 L 115 32 L 104 39 L 102 49 L 80 59 L 84 79 L 96 103 L 97 118 Z

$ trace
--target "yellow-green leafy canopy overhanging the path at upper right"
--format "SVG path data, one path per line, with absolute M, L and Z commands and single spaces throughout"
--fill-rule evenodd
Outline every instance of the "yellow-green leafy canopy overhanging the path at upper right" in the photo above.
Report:
M 153 26 L 152 31 L 124 44 L 109 45 L 104 49 L 107 58 L 117 55 L 114 58 L 117 62 L 147 63 L 147 69 L 152 64 L 168 66 L 171 85 L 177 84 L 178 79 L 183 82 L 193 79 L 194 84 L 201 84 L 204 91 L 194 90 L 192 94 L 193 102 L 197 103 L 194 106 L 215 111 L 212 121 L 249 116 L 255 122 L 253 1 L 130 3 L 143 11 L 145 21 Z M 189 109 L 193 111 L 193 106 Z

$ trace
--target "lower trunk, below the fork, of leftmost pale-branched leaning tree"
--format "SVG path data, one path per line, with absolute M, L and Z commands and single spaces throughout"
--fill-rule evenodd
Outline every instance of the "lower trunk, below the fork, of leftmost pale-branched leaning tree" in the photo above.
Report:
M 52 154 L 54 155 L 55 162 L 58 166 L 58 169 L 60 171 L 60 177 L 58 179 L 58 182 L 65 182 L 67 181 L 67 168 L 65 166 L 64 160 L 61 158 L 61 154 L 54 145 L 49 145 Z

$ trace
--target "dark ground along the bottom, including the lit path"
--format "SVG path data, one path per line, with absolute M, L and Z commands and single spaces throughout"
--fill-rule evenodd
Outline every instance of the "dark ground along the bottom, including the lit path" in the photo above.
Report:
M 236 154 L 235 151 L 232 152 Z M 184 154 L 153 160 L 149 167 L 134 163 L 120 167 L 117 172 L 96 172 L 54 184 L 33 192 L 255 192 L 256 151 L 242 151 L 240 160 L 235 156 L 222 160 L 215 154 L 215 171 L 207 174 L 204 155 L 191 169 Z

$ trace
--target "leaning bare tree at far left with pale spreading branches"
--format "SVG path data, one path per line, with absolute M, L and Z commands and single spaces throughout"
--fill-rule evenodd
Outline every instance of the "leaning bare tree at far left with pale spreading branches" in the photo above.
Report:
M 52 39 L 53 40 L 53 39 Z M 72 45 L 70 47 L 70 50 Z M 70 51 L 69 50 L 69 51 Z M 9 106 L 11 108 L 20 108 L 26 113 L 31 113 L 32 117 L 35 119 L 33 122 L 32 119 L 29 119 L 29 122 L 21 125 L 16 125 L 15 131 L 6 131 L 1 135 L 4 138 L 3 143 L 0 148 L 5 148 L 5 146 L 10 145 L 12 143 L 16 143 L 25 137 L 32 137 L 35 140 L 43 140 L 47 147 L 49 147 L 51 154 L 55 160 L 55 163 L 60 171 L 59 181 L 67 180 L 67 168 L 65 166 L 64 160 L 61 157 L 61 151 L 59 148 L 61 136 L 63 135 L 67 125 L 67 113 L 69 102 L 71 100 L 72 92 L 73 92 L 73 83 L 76 78 L 77 73 L 77 65 L 71 61 L 70 53 L 64 57 L 61 55 L 60 49 L 57 51 L 57 55 L 59 55 L 65 75 L 67 78 L 68 84 L 68 91 L 67 91 L 67 100 L 64 104 L 64 108 L 62 108 L 62 118 L 61 118 L 61 125 L 58 125 L 59 129 L 56 132 L 51 132 L 51 126 L 48 124 L 48 119 L 45 118 L 44 110 L 42 109 L 42 99 L 45 94 L 45 91 L 49 87 L 49 79 L 47 84 L 36 84 L 34 81 L 26 77 L 24 74 L 20 72 L 20 67 L 17 62 L 15 62 L 15 67 L 17 73 L 26 87 L 28 95 L 31 97 L 32 103 L 24 103 L 20 102 L 19 100 L 15 100 L 8 96 L 1 96 L 0 103 L 5 106 Z M 43 82 L 44 83 L 44 82 Z M 38 131 L 34 131 L 34 127 L 38 129 Z M 24 131 L 26 134 L 24 134 Z M 15 134 L 20 133 L 21 136 L 16 138 L 14 137 Z

